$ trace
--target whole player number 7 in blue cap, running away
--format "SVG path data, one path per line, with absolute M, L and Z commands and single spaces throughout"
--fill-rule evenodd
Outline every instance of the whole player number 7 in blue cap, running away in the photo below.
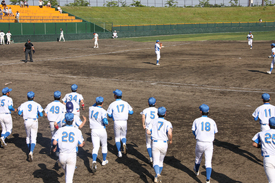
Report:
M 155 170 L 154 182 L 162 182 L 160 173 L 162 173 L 164 157 L 169 144 L 172 144 L 172 124 L 165 120 L 166 109 L 159 107 L 157 109 L 157 116 L 155 120 L 151 121 L 146 126 L 146 133 L 151 135 L 152 139 L 152 153 L 153 153 L 153 168 Z

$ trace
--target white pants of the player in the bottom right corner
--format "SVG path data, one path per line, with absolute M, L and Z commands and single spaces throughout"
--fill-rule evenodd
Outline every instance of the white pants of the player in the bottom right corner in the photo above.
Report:
M 269 183 L 275 183 L 275 155 L 263 157 L 263 168 Z

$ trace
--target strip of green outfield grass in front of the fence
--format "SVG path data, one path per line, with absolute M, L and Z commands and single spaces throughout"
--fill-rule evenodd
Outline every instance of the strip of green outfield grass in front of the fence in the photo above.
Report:
M 140 42 L 151 42 L 159 39 L 161 42 L 165 41 L 246 41 L 246 36 L 249 32 L 236 32 L 236 33 L 208 33 L 208 34 L 183 34 L 183 35 L 172 35 L 172 36 L 150 36 L 137 37 L 137 38 L 122 38 L 122 40 L 140 41 Z M 252 32 L 254 39 L 253 41 L 274 41 L 275 31 L 270 32 Z M 118 33 L 119 36 L 119 33 Z M 274 41 L 275 43 L 275 41 Z

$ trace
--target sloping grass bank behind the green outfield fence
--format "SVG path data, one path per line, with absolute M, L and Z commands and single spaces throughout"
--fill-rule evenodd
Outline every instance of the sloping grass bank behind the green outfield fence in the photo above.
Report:
M 63 10 L 89 21 L 113 25 L 274 21 L 275 6 L 237 8 L 68 7 Z

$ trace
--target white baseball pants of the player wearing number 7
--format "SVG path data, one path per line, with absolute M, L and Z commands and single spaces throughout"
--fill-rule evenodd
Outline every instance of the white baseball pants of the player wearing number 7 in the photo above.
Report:
M 163 167 L 164 158 L 167 152 L 168 144 L 163 140 L 158 140 L 157 142 L 152 142 L 152 157 L 153 157 L 153 167 L 158 165 Z

